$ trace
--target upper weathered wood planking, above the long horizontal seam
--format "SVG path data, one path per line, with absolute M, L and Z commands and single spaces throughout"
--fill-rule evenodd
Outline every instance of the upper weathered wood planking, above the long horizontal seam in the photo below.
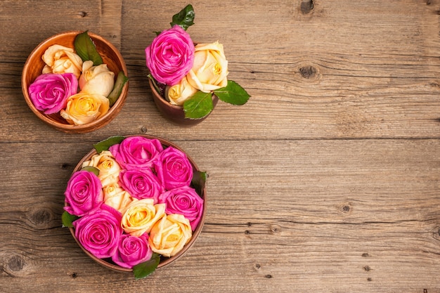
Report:
M 210 4 L 195 3 L 197 25 L 190 33 L 194 39 L 224 43 L 230 78 L 245 86 L 252 98 L 242 107 L 220 103 L 207 121 L 193 129 L 181 129 L 160 117 L 145 68 L 144 48 L 153 39 L 153 31 L 169 25 L 169 9 L 161 7 L 179 9 L 181 4 L 124 1 L 122 8 L 112 4 L 109 9 L 115 11 L 110 13 L 105 12 L 109 3 L 87 1 L 89 9 L 84 9 L 90 12 L 80 21 L 75 11 L 83 8 L 81 1 L 63 13 L 51 8 L 51 1 L 32 6 L 53 9 L 49 12 L 66 26 L 80 23 L 78 29 L 116 36 L 115 44 L 120 37 L 131 78 L 129 98 L 121 117 L 97 133 L 101 137 L 147 129 L 150 134 L 174 139 L 439 138 L 438 3 L 369 1 L 358 7 L 345 1 L 315 1 L 313 11 L 304 14 L 301 1 L 232 2 L 216 7 L 225 18 L 215 22 L 216 30 L 212 30 Z M 21 2 L 12 1 L 11 7 L 8 1 L 4 3 L 6 15 L 13 15 Z M 235 13 L 226 13 L 230 6 Z M 117 9 L 122 13 L 120 32 L 118 20 L 112 24 Z M 31 21 L 39 15 L 31 11 L 30 17 Z M 6 20 L 2 23 L 8 23 Z M 6 91 L 0 99 L 8 108 L 8 113 L 1 112 L 1 119 L 10 129 L 4 139 L 40 140 L 51 129 L 26 108 L 18 78 L 27 54 L 54 33 L 53 26 L 45 25 L 32 39 L 27 37 L 30 32 L 25 25 L 7 32 L 0 42 L 1 51 L 5 58 L 13 55 L 15 59 L 12 63 L 5 59 L 0 65 L 6 76 L 1 81 Z M 11 39 L 22 44 L 18 51 L 12 49 Z M 18 132 L 21 138 L 15 135 Z M 70 139 L 76 140 L 74 136 Z

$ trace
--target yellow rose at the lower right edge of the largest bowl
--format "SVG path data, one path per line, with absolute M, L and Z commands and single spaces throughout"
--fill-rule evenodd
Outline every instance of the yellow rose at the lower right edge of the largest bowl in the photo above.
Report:
M 163 256 L 174 256 L 193 237 L 190 221 L 181 214 L 165 214 L 150 231 L 151 250 Z

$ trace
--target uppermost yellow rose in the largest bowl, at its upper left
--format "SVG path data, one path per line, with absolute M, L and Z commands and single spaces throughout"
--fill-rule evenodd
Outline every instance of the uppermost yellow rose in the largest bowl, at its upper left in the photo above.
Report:
M 103 150 L 100 154 L 93 155 L 89 161 L 82 163 L 82 167 L 95 167 L 99 170 L 98 178 L 103 186 L 119 181 L 121 167 L 109 150 Z

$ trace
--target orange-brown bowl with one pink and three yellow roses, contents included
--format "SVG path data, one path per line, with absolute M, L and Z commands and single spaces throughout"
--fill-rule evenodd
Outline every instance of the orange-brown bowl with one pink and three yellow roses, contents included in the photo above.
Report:
M 41 42 L 22 72 L 31 110 L 56 129 L 87 132 L 117 115 L 127 96 L 119 51 L 89 32 L 64 32 Z

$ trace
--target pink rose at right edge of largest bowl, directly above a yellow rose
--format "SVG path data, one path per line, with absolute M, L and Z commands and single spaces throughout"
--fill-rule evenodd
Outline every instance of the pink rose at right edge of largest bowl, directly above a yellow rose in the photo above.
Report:
M 203 200 L 193 188 L 182 186 L 159 196 L 159 202 L 167 204 L 165 213 L 181 214 L 190 221 L 191 230 L 197 228 L 203 212 Z

